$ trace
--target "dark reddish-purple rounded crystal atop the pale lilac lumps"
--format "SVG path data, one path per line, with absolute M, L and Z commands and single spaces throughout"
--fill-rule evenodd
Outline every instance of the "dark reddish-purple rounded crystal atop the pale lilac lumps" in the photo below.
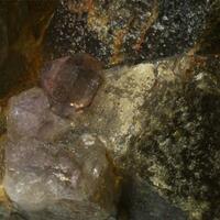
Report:
M 100 68 L 100 63 L 86 54 L 48 63 L 41 79 L 52 109 L 57 114 L 67 117 L 75 110 L 89 106 L 101 82 L 98 74 Z

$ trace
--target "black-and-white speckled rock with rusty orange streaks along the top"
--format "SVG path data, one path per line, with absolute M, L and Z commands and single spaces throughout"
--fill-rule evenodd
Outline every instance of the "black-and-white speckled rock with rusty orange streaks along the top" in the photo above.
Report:
M 55 57 L 86 52 L 107 65 L 156 59 L 197 45 L 217 2 L 62 0 L 47 43 Z M 216 6 L 215 6 L 216 7 Z

